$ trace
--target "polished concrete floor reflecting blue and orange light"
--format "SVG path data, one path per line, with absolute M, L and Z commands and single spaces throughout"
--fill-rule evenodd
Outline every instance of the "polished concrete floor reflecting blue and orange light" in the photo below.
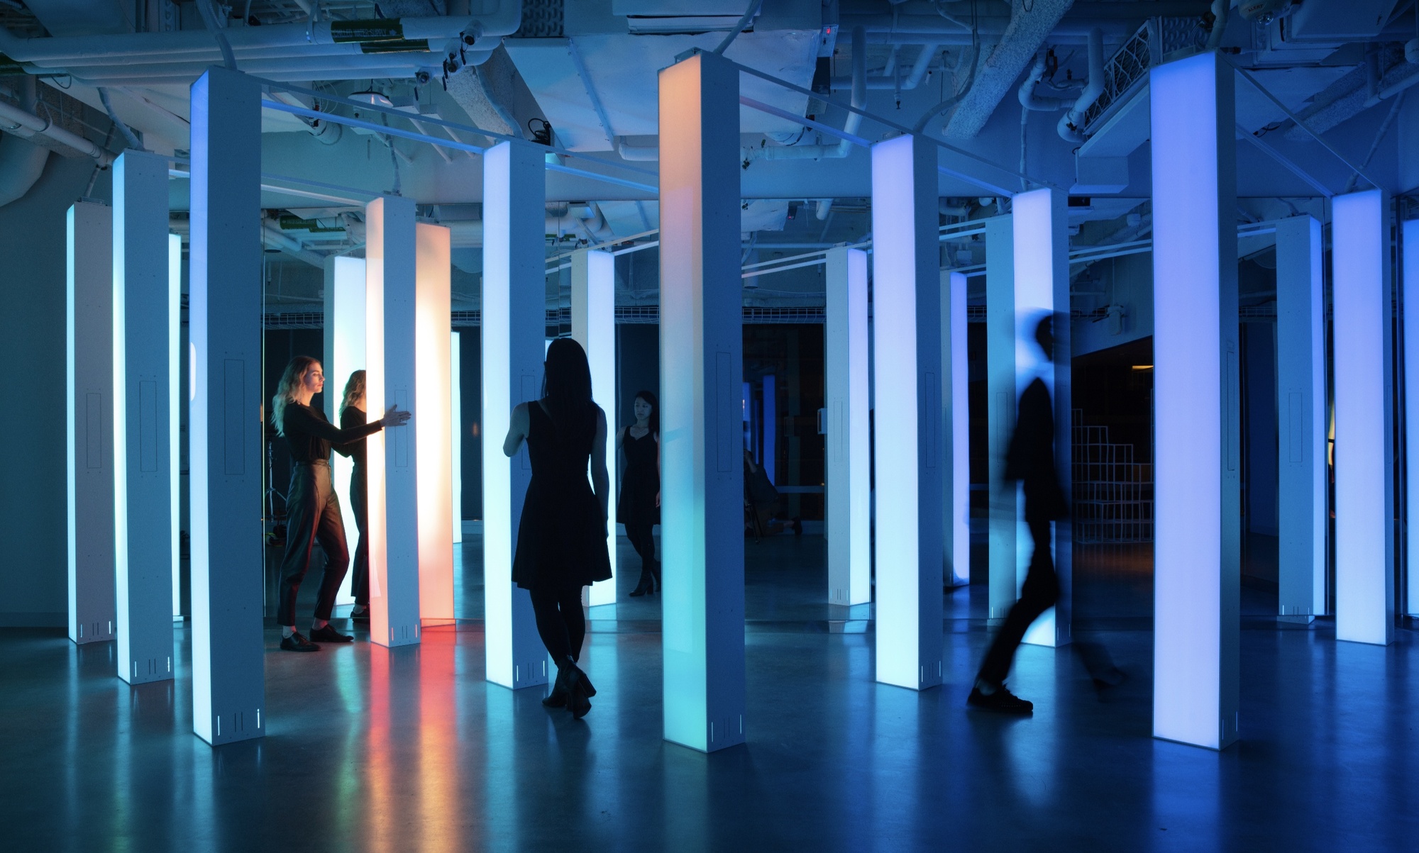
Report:
M 470 543 L 465 551 L 474 550 Z M 964 706 L 985 587 L 948 592 L 946 684 L 873 683 L 873 633 L 815 604 L 823 544 L 746 546 L 748 744 L 660 737 L 658 598 L 596 619 L 583 721 L 484 682 L 480 622 L 420 646 L 289 655 L 267 632 L 268 737 L 190 734 L 176 682 L 131 689 L 112 643 L 0 631 L 0 827 L 11 850 L 1415 850 L 1419 652 L 1280 629 L 1249 585 L 1242 742 L 1149 737 L 1145 550 L 1077 567 L 1081 639 L 1131 676 L 1098 693 L 1070 649 L 1025 648 L 1033 718 Z M 634 555 L 629 555 L 636 565 Z M 464 568 L 464 598 L 480 578 Z M 622 592 L 637 572 L 620 580 Z M 1270 595 L 1270 601 L 1269 597 Z M 302 598 L 307 598 L 302 595 Z M 467 606 L 467 601 L 464 601 Z M 844 608 L 846 609 L 846 608 Z M 302 604 L 308 614 L 308 604 Z M 616 628 L 626 622 L 629 628 Z M 363 640 L 363 638 L 362 638 Z

